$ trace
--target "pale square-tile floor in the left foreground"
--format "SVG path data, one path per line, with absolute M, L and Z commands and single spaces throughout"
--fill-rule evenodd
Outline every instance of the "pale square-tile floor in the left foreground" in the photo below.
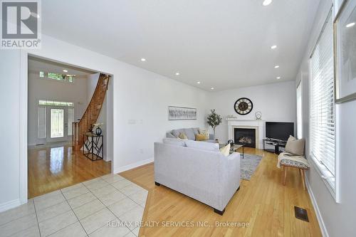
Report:
M 108 174 L 0 213 L 0 236 L 138 236 L 147 194 Z

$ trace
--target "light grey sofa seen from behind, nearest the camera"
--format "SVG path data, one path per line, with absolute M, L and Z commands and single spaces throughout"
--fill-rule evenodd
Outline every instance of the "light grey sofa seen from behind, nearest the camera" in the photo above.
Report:
M 240 188 L 240 154 L 225 157 L 219 148 L 207 151 L 185 147 L 182 140 L 175 144 L 156 142 L 155 184 L 197 199 L 222 215 Z

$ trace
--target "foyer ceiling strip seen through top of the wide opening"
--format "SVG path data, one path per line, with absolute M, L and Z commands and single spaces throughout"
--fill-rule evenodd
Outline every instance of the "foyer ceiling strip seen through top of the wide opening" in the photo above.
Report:
M 68 70 L 68 73 L 63 72 L 63 70 Z M 47 73 L 74 74 L 74 75 L 89 75 L 95 73 L 90 70 L 76 68 L 71 65 L 56 63 L 50 60 L 35 58 L 31 56 L 28 57 L 28 71 L 30 71 L 31 73 L 38 73 L 40 71 L 43 71 Z

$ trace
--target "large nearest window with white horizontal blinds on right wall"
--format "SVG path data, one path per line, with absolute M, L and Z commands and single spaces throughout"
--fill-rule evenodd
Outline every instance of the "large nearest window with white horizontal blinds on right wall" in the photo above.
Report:
M 310 156 L 335 197 L 335 103 L 332 14 L 310 57 Z

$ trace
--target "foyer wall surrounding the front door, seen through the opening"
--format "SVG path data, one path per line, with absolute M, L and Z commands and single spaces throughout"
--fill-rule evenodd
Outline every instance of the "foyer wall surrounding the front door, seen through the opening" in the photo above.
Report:
M 87 97 L 85 77 L 76 77 L 74 83 L 64 83 L 40 78 L 38 73 L 28 73 L 28 145 L 46 143 L 46 139 L 37 138 L 38 100 L 74 102 L 74 120 L 77 121 L 88 105 Z

